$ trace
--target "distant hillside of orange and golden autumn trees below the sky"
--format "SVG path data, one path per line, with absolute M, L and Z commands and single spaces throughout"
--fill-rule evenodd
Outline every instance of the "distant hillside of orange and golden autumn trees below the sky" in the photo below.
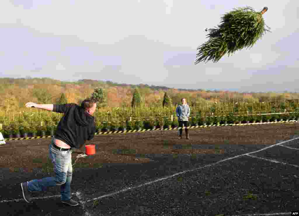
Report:
M 68 102 L 80 103 L 90 97 L 95 88 L 103 88 L 108 106 L 129 106 L 135 88 L 139 88 L 145 105 L 162 103 L 165 92 L 173 104 L 186 98 L 189 104 L 208 104 L 213 102 L 269 102 L 297 99 L 298 93 L 256 93 L 217 89 L 168 88 L 147 84 L 126 84 L 112 81 L 82 79 L 75 82 L 54 80 L 51 78 L 0 78 L 0 109 L 17 109 L 28 101 L 56 103 L 61 94 Z

